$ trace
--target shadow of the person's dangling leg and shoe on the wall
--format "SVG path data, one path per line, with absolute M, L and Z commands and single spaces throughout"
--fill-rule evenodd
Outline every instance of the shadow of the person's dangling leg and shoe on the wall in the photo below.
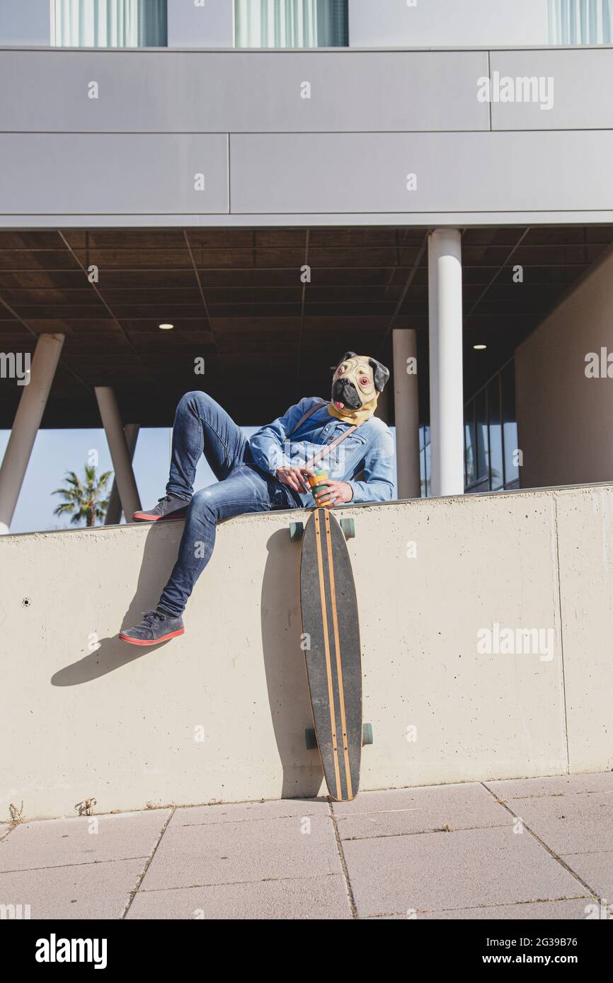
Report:
M 173 522 L 173 525 L 175 523 Z M 183 531 L 183 520 L 180 520 L 180 530 Z M 161 530 L 154 530 L 153 525 L 145 541 L 143 550 L 143 562 L 139 572 L 139 580 L 136 593 L 126 610 L 121 624 L 117 625 L 117 633 L 123 628 L 130 628 L 132 625 L 143 619 L 143 611 L 151 610 L 157 604 L 159 595 L 170 576 L 176 557 L 175 549 L 167 549 L 167 543 L 159 533 Z M 129 645 L 122 642 L 117 635 L 98 639 L 99 647 L 80 659 L 77 663 L 66 665 L 59 672 L 51 676 L 52 686 L 79 686 L 81 683 L 91 682 L 98 679 L 108 672 L 114 672 L 122 665 L 134 662 L 156 649 L 161 649 L 165 645 L 170 645 L 172 639 L 167 642 L 160 642 L 159 645 Z

